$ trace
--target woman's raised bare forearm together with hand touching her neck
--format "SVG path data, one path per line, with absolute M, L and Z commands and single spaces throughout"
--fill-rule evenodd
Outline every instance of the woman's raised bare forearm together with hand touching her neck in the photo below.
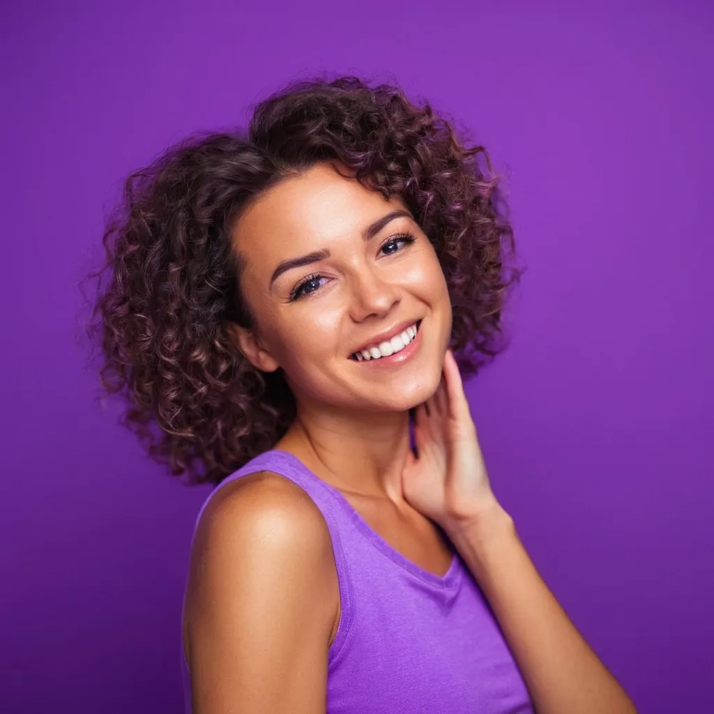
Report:
M 404 496 L 442 526 L 486 595 L 538 714 L 633 714 L 635 707 L 588 647 L 523 548 L 491 489 L 461 374 L 451 351 L 444 379 L 416 409 L 417 455 Z

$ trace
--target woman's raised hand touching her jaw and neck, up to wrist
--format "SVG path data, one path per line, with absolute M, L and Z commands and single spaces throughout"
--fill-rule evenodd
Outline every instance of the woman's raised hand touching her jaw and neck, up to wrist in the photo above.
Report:
M 402 469 L 406 501 L 446 533 L 476 523 L 501 506 L 478 444 L 458 365 L 446 352 L 443 378 L 431 399 L 416 408 L 414 440 Z

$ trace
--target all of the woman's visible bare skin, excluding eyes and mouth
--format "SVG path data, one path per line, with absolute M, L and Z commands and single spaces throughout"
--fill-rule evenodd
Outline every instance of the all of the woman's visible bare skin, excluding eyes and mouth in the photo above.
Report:
M 535 570 L 491 489 L 456 361 L 451 304 L 427 236 L 404 210 L 326 164 L 288 178 L 236 225 L 243 295 L 256 317 L 234 327 L 243 354 L 282 368 L 298 416 L 276 445 L 338 488 L 393 548 L 446 573 L 451 542 L 501 625 L 538 714 L 632 713 Z M 413 242 L 395 236 L 410 233 Z M 329 256 L 271 282 L 281 261 Z M 310 296 L 290 297 L 317 274 Z M 350 355 L 402 321 L 418 350 L 374 368 Z M 409 448 L 416 407 L 418 458 Z M 448 539 L 443 536 L 446 535 Z M 301 488 L 256 473 L 216 493 L 198 524 L 184 608 L 194 714 L 319 714 L 340 605 L 331 539 Z

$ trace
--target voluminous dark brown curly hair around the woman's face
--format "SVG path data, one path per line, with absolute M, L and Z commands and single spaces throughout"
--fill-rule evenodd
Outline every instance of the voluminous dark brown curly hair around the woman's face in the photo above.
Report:
M 507 264 L 513 231 L 483 146 L 396 86 L 288 84 L 246 130 L 193 134 L 126 178 L 106 261 L 90 275 L 104 391 L 126 399 L 125 426 L 188 483 L 220 482 L 295 416 L 281 371 L 256 370 L 232 336 L 231 322 L 253 317 L 231 228 L 250 201 L 326 161 L 412 211 L 446 277 L 462 369 L 476 373 L 503 349 L 506 291 L 523 271 Z

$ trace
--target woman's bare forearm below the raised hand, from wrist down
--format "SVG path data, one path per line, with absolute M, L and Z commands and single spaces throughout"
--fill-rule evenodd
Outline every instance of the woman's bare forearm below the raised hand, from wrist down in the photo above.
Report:
M 538 714 L 636 714 L 545 585 L 503 508 L 449 535 L 501 625 Z

